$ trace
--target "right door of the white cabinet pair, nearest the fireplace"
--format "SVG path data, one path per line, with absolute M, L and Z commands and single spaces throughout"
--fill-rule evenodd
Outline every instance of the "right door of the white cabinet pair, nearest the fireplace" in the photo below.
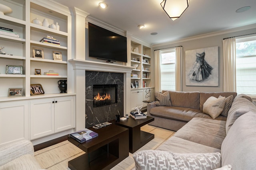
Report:
M 55 133 L 74 128 L 74 97 L 55 98 Z

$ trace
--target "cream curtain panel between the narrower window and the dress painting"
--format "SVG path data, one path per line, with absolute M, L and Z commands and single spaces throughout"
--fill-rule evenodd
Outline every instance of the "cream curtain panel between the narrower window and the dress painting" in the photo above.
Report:
M 183 47 L 175 47 L 176 59 L 175 59 L 175 90 L 182 91 L 182 58 Z

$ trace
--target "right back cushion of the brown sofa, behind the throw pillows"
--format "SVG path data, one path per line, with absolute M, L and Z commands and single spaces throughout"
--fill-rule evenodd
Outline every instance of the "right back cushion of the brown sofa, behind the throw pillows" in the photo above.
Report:
M 204 102 L 208 98 L 210 98 L 211 96 L 218 98 L 220 95 L 226 98 L 230 95 L 236 97 L 236 92 L 200 92 L 200 110 L 203 110 Z

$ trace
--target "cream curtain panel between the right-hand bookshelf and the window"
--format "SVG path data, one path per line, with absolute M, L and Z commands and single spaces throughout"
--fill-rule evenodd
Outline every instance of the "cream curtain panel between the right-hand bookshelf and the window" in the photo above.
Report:
M 161 62 L 160 62 L 160 50 L 154 52 L 155 57 L 155 91 L 161 91 Z

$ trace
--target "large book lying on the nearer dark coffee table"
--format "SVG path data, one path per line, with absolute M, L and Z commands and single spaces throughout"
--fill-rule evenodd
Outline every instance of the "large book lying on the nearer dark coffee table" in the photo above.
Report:
M 98 133 L 86 128 L 74 133 L 70 133 L 69 136 L 76 139 L 78 142 L 82 143 L 97 137 Z

